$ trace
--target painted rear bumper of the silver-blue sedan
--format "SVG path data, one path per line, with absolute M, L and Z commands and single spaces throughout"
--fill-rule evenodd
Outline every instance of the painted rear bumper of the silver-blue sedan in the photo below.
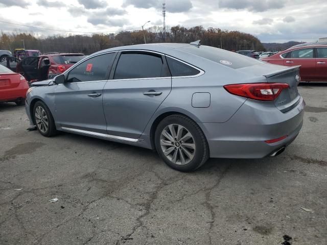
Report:
M 214 158 L 263 158 L 290 144 L 302 124 L 302 97 L 292 110 L 282 113 L 272 104 L 246 101 L 226 122 L 200 123 Z M 275 143 L 265 140 L 287 137 Z

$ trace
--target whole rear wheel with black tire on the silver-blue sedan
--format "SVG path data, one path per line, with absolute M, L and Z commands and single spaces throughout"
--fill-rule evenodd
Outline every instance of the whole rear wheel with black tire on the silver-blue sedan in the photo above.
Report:
M 183 115 L 162 119 L 156 128 L 154 141 L 159 156 L 168 166 L 179 171 L 194 171 L 209 158 L 202 130 L 196 122 Z

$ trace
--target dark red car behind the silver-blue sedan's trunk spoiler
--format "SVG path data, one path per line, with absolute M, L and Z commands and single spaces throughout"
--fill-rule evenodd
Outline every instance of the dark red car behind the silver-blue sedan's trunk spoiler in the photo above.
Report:
M 327 82 L 327 43 L 298 44 L 261 60 L 277 65 L 300 65 L 301 81 Z

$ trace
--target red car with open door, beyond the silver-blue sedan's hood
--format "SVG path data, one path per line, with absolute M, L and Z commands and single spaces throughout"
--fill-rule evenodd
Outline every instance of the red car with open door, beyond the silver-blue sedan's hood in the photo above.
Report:
M 17 64 L 16 71 L 29 82 L 42 81 L 54 78 L 84 57 L 83 54 L 49 54 L 27 57 Z

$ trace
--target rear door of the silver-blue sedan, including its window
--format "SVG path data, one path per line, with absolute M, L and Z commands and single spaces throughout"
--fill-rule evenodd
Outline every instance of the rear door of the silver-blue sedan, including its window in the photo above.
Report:
M 103 108 L 109 135 L 138 138 L 171 91 L 165 56 L 120 52 L 104 87 Z

